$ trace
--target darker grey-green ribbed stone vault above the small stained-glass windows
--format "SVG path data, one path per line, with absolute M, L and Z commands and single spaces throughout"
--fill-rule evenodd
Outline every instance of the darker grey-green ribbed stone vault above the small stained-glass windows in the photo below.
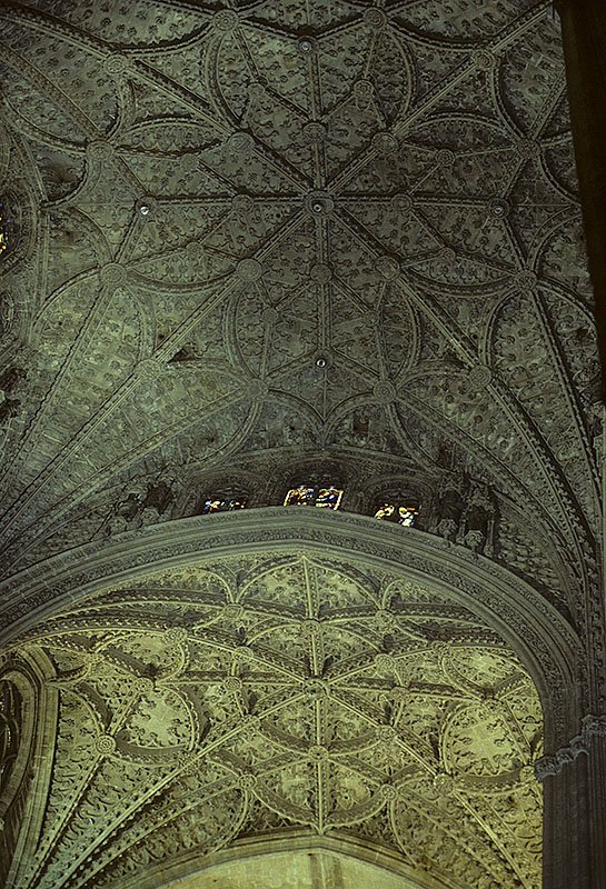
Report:
M 489 482 L 589 583 L 557 26 L 476 7 L 2 4 L 9 570 L 125 530 L 159 479 L 347 447 L 360 477 L 374 451 Z

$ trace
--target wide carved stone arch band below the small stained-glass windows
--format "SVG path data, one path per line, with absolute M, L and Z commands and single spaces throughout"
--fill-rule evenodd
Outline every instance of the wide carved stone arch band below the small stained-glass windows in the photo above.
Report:
M 0 645 L 68 605 L 116 583 L 206 558 L 280 550 L 338 553 L 369 567 L 405 572 L 457 601 L 511 646 L 544 708 L 547 747 L 577 730 L 582 648 L 577 635 L 528 583 L 483 556 L 415 529 L 329 510 L 269 507 L 215 513 L 120 535 L 40 562 L 0 585 Z

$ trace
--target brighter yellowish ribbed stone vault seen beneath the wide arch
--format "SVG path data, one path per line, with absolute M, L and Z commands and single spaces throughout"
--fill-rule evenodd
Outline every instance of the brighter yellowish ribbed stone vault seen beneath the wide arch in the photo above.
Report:
M 436 886 L 536 887 L 536 690 L 496 633 L 403 577 L 281 553 L 99 592 L 14 646 L 58 695 L 18 889 L 119 887 L 285 829 Z

